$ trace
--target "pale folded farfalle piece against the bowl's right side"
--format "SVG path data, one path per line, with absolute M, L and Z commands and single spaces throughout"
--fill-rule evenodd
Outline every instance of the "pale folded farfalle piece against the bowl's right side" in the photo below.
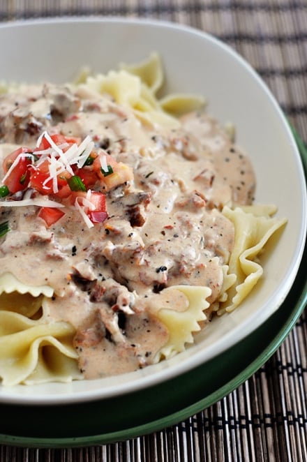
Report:
M 287 222 L 285 218 L 271 218 L 275 210 L 270 205 L 249 206 L 245 210 L 241 207 L 234 210 L 227 206 L 223 208 L 223 214 L 234 223 L 235 228 L 229 271 L 237 274 L 237 281 L 230 288 L 228 299 L 221 304 L 218 314 L 232 311 L 241 304 L 262 276 L 263 268 L 256 260 L 257 255 L 271 235 Z

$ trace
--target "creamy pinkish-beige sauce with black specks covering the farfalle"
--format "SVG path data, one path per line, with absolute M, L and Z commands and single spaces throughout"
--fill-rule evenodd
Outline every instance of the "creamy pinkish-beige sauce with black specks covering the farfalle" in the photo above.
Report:
M 134 181 L 107 192 L 108 218 L 91 229 L 74 207 L 51 228 L 38 207 L 1 207 L 10 232 L 0 238 L 0 273 L 54 288 L 45 316 L 75 327 L 85 378 L 151 364 L 168 338 L 155 309 L 186 309 L 177 297 L 165 301 L 163 288 L 207 285 L 211 304 L 218 300 L 234 244 L 221 209 L 252 202 L 250 161 L 207 114 L 157 128 L 85 87 L 45 84 L 1 96 L 2 157 L 16 145 L 34 147 L 44 130 L 90 135 L 133 167 Z

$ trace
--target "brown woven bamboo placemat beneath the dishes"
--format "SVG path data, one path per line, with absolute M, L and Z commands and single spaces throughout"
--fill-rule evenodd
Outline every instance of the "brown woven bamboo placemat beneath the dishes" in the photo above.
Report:
M 8 0 L 0 21 L 59 15 L 150 17 L 221 38 L 262 75 L 307 142 L 306 0 Z M 97 447 L 0 446 L 0 461 L 307 461 L 307 317 L 259 371 L 163 431 Z M 0 416 L 1 418 L 1 416 Z

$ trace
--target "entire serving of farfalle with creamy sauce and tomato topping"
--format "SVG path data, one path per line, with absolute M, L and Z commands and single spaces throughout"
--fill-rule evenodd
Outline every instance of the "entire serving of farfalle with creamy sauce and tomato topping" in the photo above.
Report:
M 250 299 L 287 229 L 255 204 L 253 162 L 204 100 L 159 95 L 163 64 L 153 53 L 1 97 L 3 387 L 161 380 Z

